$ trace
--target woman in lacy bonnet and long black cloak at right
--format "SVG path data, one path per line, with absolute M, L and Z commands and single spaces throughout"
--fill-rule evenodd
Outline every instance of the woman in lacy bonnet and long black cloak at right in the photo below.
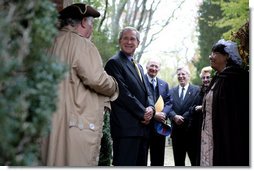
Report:
M 210 65 L 216 71 L 203 101 L 201 166 L 249 165 L 249 72 L 237 44 L 219 40 Z

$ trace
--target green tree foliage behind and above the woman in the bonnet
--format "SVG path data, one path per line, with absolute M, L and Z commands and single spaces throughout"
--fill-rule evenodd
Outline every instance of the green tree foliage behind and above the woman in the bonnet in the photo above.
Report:
M 194 80 L 195 84 L 200 84 L 201 82 L 198 76 L 201 69 L 210 65 L 208 57 L 213 44 L 222 38 L 234 40 L 235 36 L 233 35 L 235 35 L 235 32 L 239 32 L 241 27 L 249 21 L 248 0 L 204 0 L 200 6 L 199 15 L 200 35 L 198 44 L 200 57 L 194 61 L 198 71 L 196 73 L 197 78 Z M 241 44 L 239 46 L 243 46 Z M 240 53 L 243 54 L 241 51 Z M 248 52 L 244 52 L 244 54 L 246 53 Z M 241 56 L 243 57 L 243 55 Z M 247 57 L 244 58 L 245 62 Z

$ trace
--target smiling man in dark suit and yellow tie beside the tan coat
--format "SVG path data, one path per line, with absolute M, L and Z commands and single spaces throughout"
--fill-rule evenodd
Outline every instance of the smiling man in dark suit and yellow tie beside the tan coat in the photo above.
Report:
M 111 103 L 110 114 L 115 166 L 147 165 L 148 124 L 154 115 L 154 102 L 143 69 L 133 59 L 139 37 L 135 28 L 124 28 L 119 34 L 121 50 L 105 66 L 119 85 L 119 97 Z

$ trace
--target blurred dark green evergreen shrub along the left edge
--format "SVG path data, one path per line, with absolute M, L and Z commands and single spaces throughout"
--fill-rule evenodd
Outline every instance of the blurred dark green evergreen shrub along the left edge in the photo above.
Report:
M 45 50 L 57 12 L 49 0 L 5 0 L 0 9 L 0 164 L 37 166 L 66 70 Z

